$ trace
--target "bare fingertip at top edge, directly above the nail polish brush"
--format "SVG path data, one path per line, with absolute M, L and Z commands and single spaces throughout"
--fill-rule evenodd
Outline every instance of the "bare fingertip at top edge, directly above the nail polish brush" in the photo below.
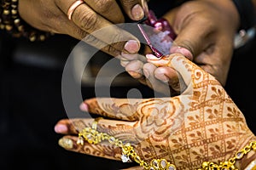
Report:
M 144 17 L 144 11 L 142 4 L 138 3 L 138 0 L 121 0 L 120 3 L 125 10 L 125 13 L 131 20 L 142 20 Z

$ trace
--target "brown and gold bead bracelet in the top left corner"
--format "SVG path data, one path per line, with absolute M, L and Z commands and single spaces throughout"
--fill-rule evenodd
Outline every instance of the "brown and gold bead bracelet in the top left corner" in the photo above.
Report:
M 12 37 L 26 37 L 31 42 L 44 41 L 53 35 L 26 24 L 18 12 L 18 0 L 1 0 L 0 29 L 7 31 Z

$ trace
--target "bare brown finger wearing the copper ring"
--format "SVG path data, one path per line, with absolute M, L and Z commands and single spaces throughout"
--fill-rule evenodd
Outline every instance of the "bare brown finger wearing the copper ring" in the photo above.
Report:
M 72 3 L 73 2 L 62 3 L 60 1 L 57 1 L 57 5 L 65 14 L 67 14 L 67 10 L 72 5 Z M 127 31 L 121 30 L 118 26 L 114 26 L 111 22 L 104 19 L 101 15 L 96 14 L 96 12 L 93 11 L 86 3 L 82 3 L 77 8 L 75 8 L 75 10 L 73 11 L 72 20 L 70 20 L 69 22 L 73 22 L 76 26 L 79 26 L 80 30 L 82 30 L 78 33 L 81 34 L 80 39 L 83 39 L 85 37 L 84 32 L 86 32 L 87 34 L 91 34 L 92 37 L 96 37 L 96 39 L 90 37 L 85 37 L 84 39 L 85 42 L 88 42 L 93 47 L 103 47 L 99 47 L 99 42 L 96 41 L 99 39 L 102 42 L 111 44 L 113 48 L 119 51 L 123 51 L 125 48 L 125 50 L 129 53 L 136 53 L 140 48 L 140 43 L 138 43 L 136 37 L 132 36 Z M 130 42 L 130 45 L 126 43 L 126 41 L 129 40 L 133 41 Z

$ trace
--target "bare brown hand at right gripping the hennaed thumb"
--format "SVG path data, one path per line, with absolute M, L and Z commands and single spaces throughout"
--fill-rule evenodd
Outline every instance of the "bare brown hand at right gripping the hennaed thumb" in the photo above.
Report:
M 164 18 L 169 21 L 177 37 L 170 53 L 180 53 L 212 74 L 224 86 L 233 53 L 233 41 L 239 16 L 232 1 L 189 1 L 172 9 Z M 146 51 L 147 53 L 148 51 Z M 137 59 L 123 64 L 131 77 L 148 82 L 169 83 L 172 91 L 179 91 L 175 71 L 170 67 L 155 67 Z M 146 82 L 146 80 L 149 80 Z M 161 86 L 164 86 L 162 83 Z M 161 87 L 160 86 L 160 87 Z M 161 88 L 154 90 L 160 91 Z M 166 93 L 166 92 L 163 92 Z

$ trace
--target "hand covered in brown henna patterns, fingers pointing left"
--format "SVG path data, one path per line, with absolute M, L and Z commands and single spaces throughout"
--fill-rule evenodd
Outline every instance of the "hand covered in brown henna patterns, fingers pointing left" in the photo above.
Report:
M 98 122 L 99 132 L 130 142 L 144 161 L 166 158 L 177 169 L 199 168 L 203 161 L 227 161 L 256 139 L 241 111 L 212 75 L 182 54 L 148 62 L 175 69 L 185 83 L 183 93 L 172 98 L 85 99 L 83 111 L 109 117 Z M 121 150 L 108 142 L 76 143 L 78 133 L 91 127 L 92 121 L 77 118 L 57 122 L 55 132 L 66 134 L 61 146 L 120 160 Z M 237 166 L 244 166 L 247 159 L 236 161 Z

